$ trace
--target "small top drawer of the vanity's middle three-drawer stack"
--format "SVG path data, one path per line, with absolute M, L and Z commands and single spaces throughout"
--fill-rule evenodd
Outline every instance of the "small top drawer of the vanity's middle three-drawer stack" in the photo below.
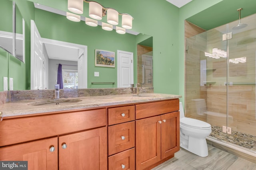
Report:
M 135 119 L 135 106 L 108 108 L 108 125 L 115 125 Z

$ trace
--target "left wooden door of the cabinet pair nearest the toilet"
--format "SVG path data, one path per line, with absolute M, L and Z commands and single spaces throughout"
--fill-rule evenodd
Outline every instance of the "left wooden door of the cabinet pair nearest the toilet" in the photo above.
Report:
M 136 170 L 161 160 L 161 116 L 136 120 Z

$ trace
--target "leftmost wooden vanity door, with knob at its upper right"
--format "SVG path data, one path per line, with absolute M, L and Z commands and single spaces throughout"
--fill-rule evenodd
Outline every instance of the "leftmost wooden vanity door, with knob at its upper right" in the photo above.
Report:
M 58 138 L 2 147 L 0 160 L 28 161 L 28 170 L 58 170 Z

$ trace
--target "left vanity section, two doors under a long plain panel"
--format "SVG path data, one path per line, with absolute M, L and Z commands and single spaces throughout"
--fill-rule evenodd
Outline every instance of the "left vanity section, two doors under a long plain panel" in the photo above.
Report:
M 107 170 L 106 120 L 106 108 L 4 119 L 0 160 L 28 160 L 31 170 Z

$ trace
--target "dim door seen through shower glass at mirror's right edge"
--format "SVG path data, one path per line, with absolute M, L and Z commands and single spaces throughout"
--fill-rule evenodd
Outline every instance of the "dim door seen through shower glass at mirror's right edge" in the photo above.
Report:
M 142 84 L 143 87 L 153 87 L 153 57 L 142 55 Z

